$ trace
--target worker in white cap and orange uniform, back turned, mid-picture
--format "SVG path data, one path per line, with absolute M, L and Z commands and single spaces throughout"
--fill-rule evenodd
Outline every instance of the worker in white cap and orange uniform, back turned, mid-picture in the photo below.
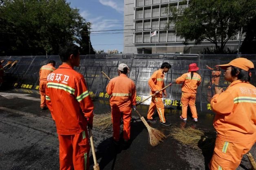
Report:
M 124 145 L 130 139 L 130 121 L 132 109 L 136 110 L 136 87 L 135 83 L 126 76 L 129 68 L 126 64 L 118 65 L 118 77 L 112 78 L 106 87 L 110 98 L 111 115 L 113 122 L 113 142 L 119 144 L 120 122 L 124 121 Z

